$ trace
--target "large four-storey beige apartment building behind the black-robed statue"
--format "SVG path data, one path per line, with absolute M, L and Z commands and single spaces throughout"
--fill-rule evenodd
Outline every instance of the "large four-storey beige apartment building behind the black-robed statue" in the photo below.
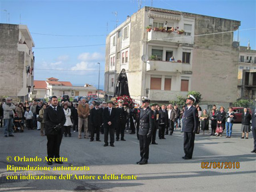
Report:
M 146 96 L 168 103 L 199 91 L 202 103 L 229 106 L 237 99 L 239 52 L 232 31 L 239 26 L 237 20 L 143 7 L 106 38 L 105 99 L 126 69 L 137 102 Z

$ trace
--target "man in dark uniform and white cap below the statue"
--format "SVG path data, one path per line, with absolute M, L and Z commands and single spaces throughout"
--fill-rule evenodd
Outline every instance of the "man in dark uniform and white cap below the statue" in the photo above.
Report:
M 118 107 L 116 108 L 116 111 L 117 111 L 116 135 L 117 135 L 117 137 L 115 139 L 116 139 L 116 141 L 119 141 L 119 135 L 121 133 L 121 141 L 125 141 L 125 124 L 126 124 L 126 119 L 127 119 L 128 113 L 127 113 L 126 109 L 122 106 L 123 100 L 119 99 L 117 102 L 118 102 Z

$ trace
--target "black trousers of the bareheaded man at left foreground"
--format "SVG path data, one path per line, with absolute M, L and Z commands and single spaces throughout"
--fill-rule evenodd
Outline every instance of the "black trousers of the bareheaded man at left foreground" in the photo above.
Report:
M 47 135 L 47 156 L 48 158 L 60 157 L 60 144 L 62 134 L 59 135 Z

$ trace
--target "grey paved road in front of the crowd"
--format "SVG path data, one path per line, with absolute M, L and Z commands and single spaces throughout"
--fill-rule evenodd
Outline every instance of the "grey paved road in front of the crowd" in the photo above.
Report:
M 15 133 L 15 137 L 3 137 L 0 128 L 0 191 L 255 191 L 256 162 L 251 133 L 249 139 L 240 139 L 241 124 L 234 124 L 232 138 L 196 135 L 192 160 L 183 160 L 183 134 L 175 130 L 166 140 L 156 140 L 150 145 L 150 159 L 147 165 L 137 165 L 139 142 L 135 135 L 126 134 L 126 141 L 115 141 L 115 147 L 103 147 L 103 142 L 89 142 L 89 139 L 63 137 L 61 156 L 68 159 L 68 166 L 86 166 L 89 170 L 52 170 L 59 164 L 48 166 L 43 162 L 46 156 L 46 137 L 36 130 Z M 225 135 L 225 134 L 224 134 Z M 101 135 L 103 140 L 103 135 Z M 41 162 L 7 162 L 6 157 L 40 157 Z M 16 157 L 17 158 L 17 157 Z M 239 169 L 202 169 L 202 162 L 239 162 Z M 7 180 L 14 175 L 7 171 L 7 165 L 51 167 L 51 170 L 17 171 L 18 176 L 66 176 L 69 180 Z M 238 166 L 238 164 L 235 164 Z M 218 166 L 218 165 L 217 165 Z M 85 169 L 86 169 L 85 168 Z M 72 176 L 71 176 L 72 174 Z M 118 180 L 104 180 L 105 174 Z M 133 180 L 125 180 L 133 176 Z M 76 176 L 75 176 L 76 175 Z M 86 177 L 91 176 L 91 179 Z M 96 179 L 93 180 L 92 176 Z M 98 176 L 101 176 L 98 180 Z M 137 180 L 135 180 L 137 176 Z M 74 177 L 77 177 L 74 178 Z M 81 179 L 79 179 L 81 177 Z M 84 177 L 84 178 L 83 178 Z M 123 178 L 123 180 L 121 179 Z

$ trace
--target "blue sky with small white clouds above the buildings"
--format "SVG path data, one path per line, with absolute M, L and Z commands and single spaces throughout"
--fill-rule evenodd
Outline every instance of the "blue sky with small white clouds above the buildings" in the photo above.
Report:
M 141 8 L 153 6 L 240 20 L 234 40 L 256 45 L 256 1 L 9 1 L 0 0 L 0 22 L 27 25 L 34 40 L 34 80 L 49 77 L 104 89 L 106 35 Z M 115 14 L 117 12 L 117 14 Z M 145 29 L 146 30 L 146 29 Z M 1 34 L 0 34 L 1 35 Z M 239 39 L 238 39 L 239 38 Z M 100 63 L 100 64 L 98 64 Z

